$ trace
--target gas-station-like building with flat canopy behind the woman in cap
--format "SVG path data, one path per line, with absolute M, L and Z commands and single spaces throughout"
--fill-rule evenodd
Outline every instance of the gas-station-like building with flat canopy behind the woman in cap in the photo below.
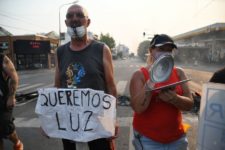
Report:
M 225 23 L 215 23 L 173 37 L 175 59 L 185 63 L 225 64 Z

